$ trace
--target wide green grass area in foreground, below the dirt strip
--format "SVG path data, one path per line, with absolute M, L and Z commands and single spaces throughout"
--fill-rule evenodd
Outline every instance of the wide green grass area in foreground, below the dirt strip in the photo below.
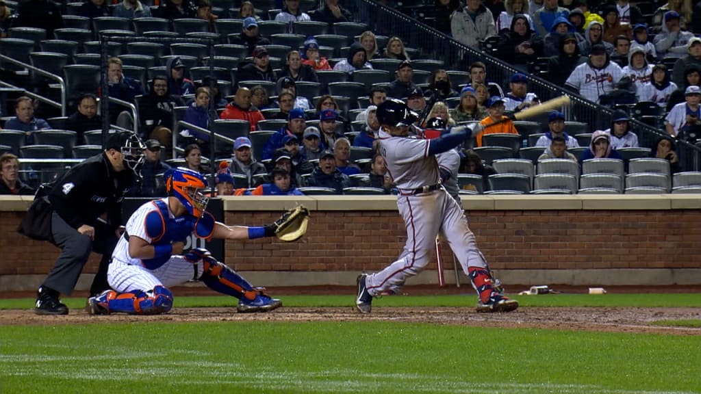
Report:
M 700 393 L 701 337 L 397 322 L 0 327 L 2 393 Z

